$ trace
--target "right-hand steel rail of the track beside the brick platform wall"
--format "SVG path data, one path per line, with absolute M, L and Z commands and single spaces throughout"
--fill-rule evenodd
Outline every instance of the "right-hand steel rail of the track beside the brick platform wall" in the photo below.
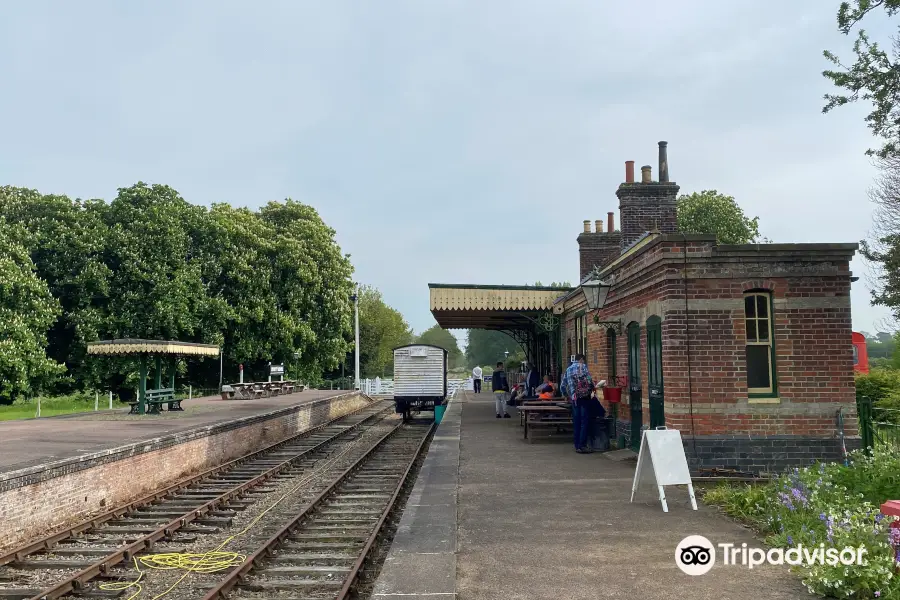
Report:
M 383 411 L 381 411 L 381 412 L 383 412 Z M 69 594 L 72 592 L 79 592 L 79 591 L 83 590 L 85 584 L 88 581 L 90 581 L 100 575 L 107 575 L 109 573 L 110 567 L 113 567 L 113 566 L 119 564 L 120 562 L 131 560 L 135 555 L 137 555 L 143 551 L 151 550 L 158 541 L 160 541 L 164 538 L 167 538 L 167 537 L 171 537 L 171 535 L 173 533 L 175 533 L 182 527 L 186 527 L 189 523 L 199 519 L 200 517 L 204 516 L 206 513 L 210 512 L 211 510 L 215 509 L 216 507 L 220 506 L 221 504 L 224 504 L 224 503 L 228 502 L 229 500 L 234 499 L 237 496 L 243 495 L 247 490 L 249 490 L 253 487 L 256 487 L 262 483 L 265 483 L 266 481 L 268 481 L 275 475 L 278 475 L 281 471 L 284 471 L 285 469 L 289 468 L 298 459 L 303 458 L 304 456 L 307 456 L 312 452 L 320 450 L 322 447 L 324 447 L 328 444 L 331 444 L 336 439 L 342 437 L 346 433 L 361 427 L 364 423 L 366 423 L 370 419 L 377 417 L 378 414 L 379 413 L 375 413 L 375 414 L 371 415 L 370 417 L 363 419 L 359 423 L 351 425 L 347 429 L 344 429 L 344 430 L 334 434 L 330 438 L 323 440 L 322 442 L 316 444 L 315 446 L 308 448 L 308 449 L 304 450 L 303 452 L 287 459 L 286 461 L 282 462 L 279 465 L 272 467 L 271 469 L 265 471 L 264 473 L 261 473 L 260 475 L 257 475 L 256 477 L 253 477 L 252 479 L 233 487 L 232 489 L 228 490 L 227 492 L 223 492 L 216 498 L 213 498 L 212 500 L 207 501 L 200 507 L 194 508 L 194 509 L 191 509 L 190 511 L 185 512 L 180 517 L 172 519 L 168 523 L 161 525 L 160 527 L 156 528 L 155 530 L 151 531 L 150 533 L 147 533 L 147 534 L 141 536 L 140 538 L 138 538 L 131 544 L 128 544 L 127 546 L 123 547 L 122 549 L 117 550 L 116 552 L 113 552 L 111 554 L 108 554 L 106 557 L 98 560 L 94 564 L 92 564 L 88 567 L 85 567 L 84 569 L 75 573 L 74 575 L 67 577 L 66 579 L 62 580 L 61 582 L 59 582 L 52 588 L 42 590 L 39 594 L 37 594 L 36 596 L 33 596 L 29 600 L 54 600 L 55 598 L 60 598 L 62 596 L 65 596 L 66 594 Z M 348 416 L 348 415 L 345 415 L 345 416 Z M 341 417 L 341 418 L 343 418 L 343 417 Z M 304 432 L 303 435 L 305 435 L 305 433 L 306 432 Z

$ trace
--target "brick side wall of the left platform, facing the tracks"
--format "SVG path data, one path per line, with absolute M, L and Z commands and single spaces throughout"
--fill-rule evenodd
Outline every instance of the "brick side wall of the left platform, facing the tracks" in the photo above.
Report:
M 0 551 L 363 408 L 356 392 L 0 475 Z

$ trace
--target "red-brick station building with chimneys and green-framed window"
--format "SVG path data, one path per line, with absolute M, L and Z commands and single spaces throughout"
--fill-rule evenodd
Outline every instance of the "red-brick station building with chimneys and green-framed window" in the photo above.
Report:
M 598 269 L 605 304 L 582 289 L 554 302 L 563 361 L 587 356 L 597 379 L 620 378 L 617 433 L 637 449 L 640 430 L 682 432 L 694 469 L 771 472 L 841 457 L 856 430 L 850 260 L 856 244 L 718 244 L 677 233 L 679 187 L 659 143 L 634 180 L 626 162 L 614 213 L 578 236 L 584 283 Z M 611 408 L 607 405 L 607 408 Z

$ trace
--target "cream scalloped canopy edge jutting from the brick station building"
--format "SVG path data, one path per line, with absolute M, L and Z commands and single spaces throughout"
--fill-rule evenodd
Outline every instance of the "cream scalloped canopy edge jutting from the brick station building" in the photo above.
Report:
M 444 329 L 528 330 L 571 288 L 429 283 L 431 314 Z

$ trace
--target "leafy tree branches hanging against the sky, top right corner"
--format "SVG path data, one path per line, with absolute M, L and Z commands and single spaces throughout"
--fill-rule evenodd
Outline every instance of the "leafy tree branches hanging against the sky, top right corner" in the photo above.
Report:
M 842 2 L 838 9 L 838 30 L 844 35 L 860 23 L 876 8 L 883 8 L 888 17 L 900 11 L 900 0 L 852 0 Z M 872 103 L 866 116 L 869 129 L 883 140 L 881 148 L 870 148 L 866 154 L 879 158 L 900 156 L 900 40 L 893 41 L 891 54 L 872 42 L 865 30 L 857 33 L 853 44 L 855 62 L 847 66 L 832 52 L 824 51 L 825 58 L 837 70 L 825 70 L 822 75 L 845 93 L 826 94 L 822 112 L 858 100 Z

